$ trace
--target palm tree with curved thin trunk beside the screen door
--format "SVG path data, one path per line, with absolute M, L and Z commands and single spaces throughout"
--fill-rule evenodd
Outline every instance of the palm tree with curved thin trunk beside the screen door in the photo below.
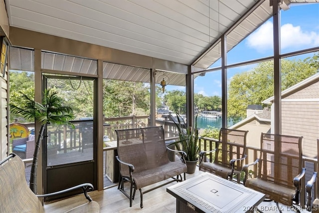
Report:
M 57 95 L 57 92 L 47 89 L 43 92 L 41 103 L 35 102 L 32 98 L 22 93 L 21 107 L 9 104 L 10 111 L 13 114 L 21 115 L 27 119 L 34 119 L 35 122 L 41 123 L 39 136 L 36 140 L 33 153 L 33 161 L 30 175 L 30 189 L 36 194 L 36 170 L 38 166 L 38 155 L 40 143 L 43 139 L 46 124 L 50 125 L 68 125 L 74 128 L 70 120 L 74 119 L 73 110 L 71 107 L 63 106 L 63 100 Z

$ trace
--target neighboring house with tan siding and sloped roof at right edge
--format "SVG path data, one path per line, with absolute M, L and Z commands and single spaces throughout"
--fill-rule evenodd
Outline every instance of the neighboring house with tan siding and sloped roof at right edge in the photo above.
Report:
M 319 138 L 319 73 L 284 90 L 281 96 L 282 134 L 303 136 L 303 155 L 316 157 Z M 263 103 L 272 104 L 273 109 L 274 96 Z M 273 113 L 271 120 L 273 124 Z M 273 126 L 271 129 L 274 129 Z

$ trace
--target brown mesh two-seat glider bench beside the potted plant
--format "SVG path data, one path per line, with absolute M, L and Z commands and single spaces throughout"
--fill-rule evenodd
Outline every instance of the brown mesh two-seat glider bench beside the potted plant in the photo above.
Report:
M 168 159 L 168 149 L 164 141 L 162 127 L 147 127 L 139 129 L 116 130 L 118 156 L 120 162 L 120 181 L 118 189 L 130 199 L 130 207 L 136 190 L 141 194 L 141 208 L 143 208 L 143 194 L 160 188 L 174 181 L 182 181 L 180 174 L 187 170 L 181 161 L 171 162 Z M 177 152 L 177 151 L 176 151 Z M 176 178 L 175 178 L 176 177 Z M 147 191 L 142 188 L 165 181 Z M 130 183 L 130 195 L 124 191 L 124 183 Z

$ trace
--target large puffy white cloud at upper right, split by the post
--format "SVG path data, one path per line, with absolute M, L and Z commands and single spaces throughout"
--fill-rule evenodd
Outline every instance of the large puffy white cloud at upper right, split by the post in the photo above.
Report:
M 258 30 L 247 37 L 247 45 L 259 52 L 272 49 L 273 46 L 273 23 L 267 21 Z M 303 31 L 300 26 L 291 23 L 281 27 L 281 48 L 296 46 L 318 46 L 319 33 Z

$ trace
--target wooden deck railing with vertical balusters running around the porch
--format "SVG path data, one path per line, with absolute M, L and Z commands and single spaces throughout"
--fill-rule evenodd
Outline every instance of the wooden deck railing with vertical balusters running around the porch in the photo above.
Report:
M 117 129 L 130 129 L 130 128 L 141 128 L 141 127 L 148 127 L 149 126 L 149 116 L 129 116 L 129 117 L 115 117 L 115 118 L 105 118 L 104 119 L 104 135 L 108 135 L 111 141 L 116 141 L 116 132 Z M 53 139 L 56 143 L 60 145 L 60 151 L 67 152 L 68 149 L 79 148 L 80 146 L 80 138 L 82 131 L 84 130 L 83 127 L 85 125 L 89 125 L 87 120 L 81 121 L 73 121 L 74 125 L 76 126 L 75 129 L 69 129 L 64 127 L 60 130 L 52 130 L 48 131 L 48 138 Z M 156 120 L 157 126 L 163 126 L 165 130 L 165 138 L 167 140 L 175 139 L 178 137 L 178 131 L 176 130 L 176 126 L 172 121 L 163 121 L 163 120 Z M 27 127 L 33 128 L 33 123 L 27 123 Z M 84 127 L 86 128 L 86 127 Z M 87 130 L 87 129 L 86 129 Z M 215 148 L 215 143 L 217 142 L 216 139 L 212 138 L 199 138 L 199 150 L 201 151 L 208 151 Z M 104 148 L 105 154 L 110 155 L 110 151 L 116 150 L 116 147 L 113 148 Z M 246 158 L 245 163 L 254 162 L 257 158 L 259 158 L 260 149 L 258 147 L 247 146 L 246 154 L 248 158 Z M 114 170 L 114 162 L 110 162 L 110 159 L 114 159 L 115 152 L 112 153 L 112 156 L 109 156 L 109 162 L 104 164 L 104 171 L 112 171 Z M 207 156 L 206 161 L 213 161 L 213 154 Z M 317 164 L 318 161 L 316 158 L 309 158 L 303 157 L 302 159 L 303 167 L 306 168 L 306 177 L 303 179 L 302 186 L 305 186 L 306 182 L 309 181 L 313 175 L 314 171 L 317 171 Z M 26 162 L 30 162 L 26 160 Z M 256 177 L 257 174 L 257 165 L 252 166 L 250 168 L 252 177 Z M 312 195 L 317 194 L 317 186 L 314 187 L 314 191 Z M 302 189 L 302 204 L 305 204 L 306 198 L 306 190 L 305 187 Z M 314 196 L 313 196 L 314 197 Z

